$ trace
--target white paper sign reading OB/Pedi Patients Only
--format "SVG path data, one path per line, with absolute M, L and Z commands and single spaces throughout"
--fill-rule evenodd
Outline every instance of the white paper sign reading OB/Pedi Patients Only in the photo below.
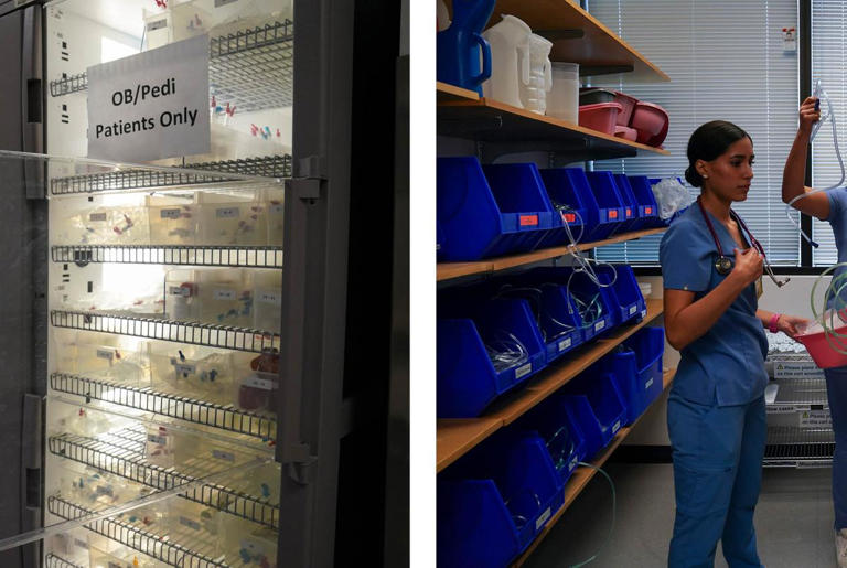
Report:
M 207 35 L 87 74 L 89 158 L 141 162 L 210 151 Z

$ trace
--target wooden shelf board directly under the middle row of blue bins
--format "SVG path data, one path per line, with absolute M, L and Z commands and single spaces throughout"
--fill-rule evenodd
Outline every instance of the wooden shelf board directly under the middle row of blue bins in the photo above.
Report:
M 655 320 L 662 314 L 662 300 L 647 300 L 647 315 L 642 322 L 613 330 L 612 335 L 594 341 L 587 345 L 583 351 L 564 355 L 566 358 L 569 355 L 571 357 L 577 356 L 567 363 L 554 364 L 551 369 L 543 371 L 538 377 L 529 379 L 526 387 L 515 394 L 506 395 L 502 400 L 495 403 L 485 416 L 467 420 L 438 420 L 436 471 L 440 472 L 453 463 L 498 428 L 514 422 L 592 363 L 612 352 L 626 337 Z M 493 422 L 482 424 L 482 420 L 492 420 Z

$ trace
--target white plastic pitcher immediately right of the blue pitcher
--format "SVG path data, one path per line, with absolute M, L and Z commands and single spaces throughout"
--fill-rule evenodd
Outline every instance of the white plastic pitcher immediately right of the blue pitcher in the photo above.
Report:
M 482 84 L 486 98 L 524 108 L 521 101 L 521 69 L 529 66 L 526 45 L 532 34 L 533 30 L 514 15 L 503 15 L 500 23 L 482 34 L 491 44 L 491 78 Z

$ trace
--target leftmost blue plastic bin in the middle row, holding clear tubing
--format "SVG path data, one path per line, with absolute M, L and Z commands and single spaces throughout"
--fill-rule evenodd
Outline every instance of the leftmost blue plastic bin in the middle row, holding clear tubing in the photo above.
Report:
M 442 306 L 450 304 L 452 306 Z M 437 394 L 439 418 L 473 418 L 498 395 L 525 382 L 547 365 L 547 353 L 526 300 L 475 302 L 463 296 L 439 301 L 437 330 Z M 485 345 L 514 335 L 526 361 L 497 369 Z

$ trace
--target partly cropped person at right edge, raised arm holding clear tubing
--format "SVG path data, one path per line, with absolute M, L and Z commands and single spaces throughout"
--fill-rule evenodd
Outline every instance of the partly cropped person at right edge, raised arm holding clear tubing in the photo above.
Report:
M 806 148 L 812 133 L 812 126 L 821 118 L 815 110 L 816 99 L 808 97 L 800 107 L 800 128 L 794 144 L 785 161 L 782 176 L 782 201 L 789 203 L 805 191 L 811 191 L 803 183 L 806 173 Z M 838 249 L 838 262 L 847 262 L 847 190 L 839 189 L 826 193 L 815 193 L 793 204 L 794 208 L 806 215 L 814 215 L 821 221 L 828 221 L 835 235 Z M 836 268 L 840 275 L 844 268 Z M 847 298 L 840 298 L 838 309 Z M 828 308 L 834 308 L 833 302 Z M 826 394 L 829 399 L 829 414 L 835 432 L 835 454 L 833 456 L 833 505 L 835 506 L 835 550 L 840 568 L 847 568 L 847 367 L 826 368 Z

